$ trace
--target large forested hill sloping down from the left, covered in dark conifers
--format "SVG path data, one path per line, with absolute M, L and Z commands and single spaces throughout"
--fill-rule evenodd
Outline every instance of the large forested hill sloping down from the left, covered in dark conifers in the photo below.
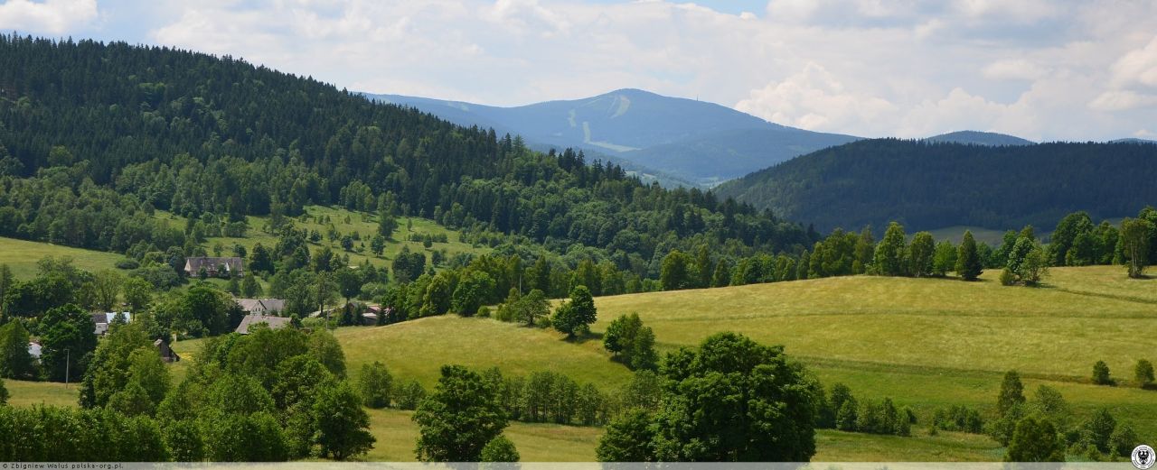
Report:
M 185 234 L 154 209 L 277 221 L 309 203 L 597 247 L 620 268 L 677 247 L 815 239 L 710 193 L 228 57 L 0 37 L 0 236 L 164 251 Z

